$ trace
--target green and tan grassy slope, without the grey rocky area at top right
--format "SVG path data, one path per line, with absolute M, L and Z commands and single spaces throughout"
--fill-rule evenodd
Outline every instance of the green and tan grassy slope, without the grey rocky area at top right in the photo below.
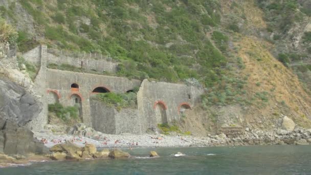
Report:
M 19 48 L 40 42 L 101 52 L 122 62 L 119 76 L 171 82 L 196 78 L 207 88 L 196 113 L 202 116 L 210 106 L 240 104 L 250 124 L 285 114 L 310 126 L 308 94 L 269 53 L 274 43 L 258 34 L 271 28 L 263 20 L 264 10 L 255 1 L 232 2 L 19 1 L 39 26 L 37 35 L 45 36 L 20 30 Z M 6 17 L 10 10 L 14 7 Z

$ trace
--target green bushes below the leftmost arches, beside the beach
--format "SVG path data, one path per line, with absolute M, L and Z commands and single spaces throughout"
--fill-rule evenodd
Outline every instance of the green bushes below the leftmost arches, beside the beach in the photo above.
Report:
M 60 103 L 49 104 L 49 112 L 55 113 L 56 116 L 63 120 L 78 119 L 79 108 L 77 106 L 62 106 Z

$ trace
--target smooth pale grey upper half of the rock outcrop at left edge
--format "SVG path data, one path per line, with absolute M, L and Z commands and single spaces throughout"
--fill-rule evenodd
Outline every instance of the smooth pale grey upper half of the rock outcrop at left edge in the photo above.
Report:
M 23 126 L 36 118 L 42 104 L 21 86 L 0 78 L 0 115 Z

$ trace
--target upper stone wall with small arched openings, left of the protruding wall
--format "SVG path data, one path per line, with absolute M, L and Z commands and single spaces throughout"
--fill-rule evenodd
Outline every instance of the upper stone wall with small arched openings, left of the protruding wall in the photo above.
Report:
M 55 93 L 58 100 L 65 106 L 72 106 L 73 95 L 81 99 L 83 122 L 92 126 L 90 96 L 95 88 L 103 87 L 109 92 L 125 93 L 140 86 L 140 80 L 129 80 L 122 77 L 112 77 L 79 72 L 47 69 L 45 93 Z M 71 84 L 76 83 L 79 89 L 71 89 Z M 53 94 L 53 95 L 55 95 Z M 46 103 L 47 105 L 47 103 Z M 46 107 L 47 108 L 47 107 Z

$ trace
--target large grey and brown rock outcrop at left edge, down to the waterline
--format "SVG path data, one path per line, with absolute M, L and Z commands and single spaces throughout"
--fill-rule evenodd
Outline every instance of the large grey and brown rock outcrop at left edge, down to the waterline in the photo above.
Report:
M 42 110 L 41 104 L 14 82 L 0 78 L 0 152 L 26 155 L 47 152 L 24 125 Z

